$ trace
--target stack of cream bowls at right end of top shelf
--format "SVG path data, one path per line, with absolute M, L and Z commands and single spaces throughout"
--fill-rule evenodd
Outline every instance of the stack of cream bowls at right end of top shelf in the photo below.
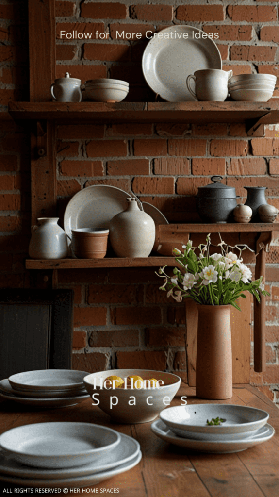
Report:
M 233 100 L 267 102 L 273 95 L 276 76 L 272 74 L 239 74 L 228 81 Z

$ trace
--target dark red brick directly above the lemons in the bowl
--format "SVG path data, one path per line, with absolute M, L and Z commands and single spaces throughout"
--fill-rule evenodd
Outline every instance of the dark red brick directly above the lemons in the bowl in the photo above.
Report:
M 159 350 L 117 352 L 116 358 L 119 369 L 152 369 L 163 371 L 167 367 L 166 354 Z

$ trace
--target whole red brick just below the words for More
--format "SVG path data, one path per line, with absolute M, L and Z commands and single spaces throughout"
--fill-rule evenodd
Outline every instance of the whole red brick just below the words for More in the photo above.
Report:
M 130 60 L 130 46 L 112 43 L 85 43 L 84 59 L 127 62 Z

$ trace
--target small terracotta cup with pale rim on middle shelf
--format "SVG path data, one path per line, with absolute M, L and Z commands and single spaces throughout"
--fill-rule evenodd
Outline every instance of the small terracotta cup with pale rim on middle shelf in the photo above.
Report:
M 79 228 L 71 230 L 73 254 L 81 259 L 102 259 L 107 253 L 109 230 Z

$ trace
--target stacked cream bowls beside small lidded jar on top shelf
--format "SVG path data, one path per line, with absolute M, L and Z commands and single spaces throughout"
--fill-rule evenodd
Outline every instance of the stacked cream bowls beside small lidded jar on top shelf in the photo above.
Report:
M 129 83 L 110 79 L 88 80 L 84 88 L 87 97 L 95 102 L 121 102 L 128 94 Z

